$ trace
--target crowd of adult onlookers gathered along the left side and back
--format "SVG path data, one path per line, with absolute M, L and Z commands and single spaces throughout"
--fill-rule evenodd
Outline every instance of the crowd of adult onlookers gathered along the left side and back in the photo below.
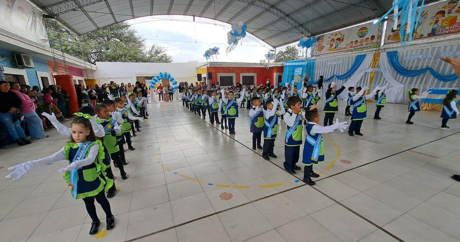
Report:
M 148 90 L 145 84 L 136 82 L 120 85 L 111 81 L 109 84 L 84 86 L 76 84 L 78 107 L 92 106 L 108 98 L 121 97 L 130 92 L 140 92 L 147 97 Z M 17 82 L 0 81 L 0 151 L 4 145 L 17 143 L 18 145 L 31 144 L 31 140 L 48 137 L 45 130 L 54 126 L 43 115 L 53 114 L 60 122 L 67 121 L 70 113 L 69 93 L 61 85 L 49 85 L 40 90 L 39 86 L 29 86 Z M 30 136 L 30 139 L 26 137 Z

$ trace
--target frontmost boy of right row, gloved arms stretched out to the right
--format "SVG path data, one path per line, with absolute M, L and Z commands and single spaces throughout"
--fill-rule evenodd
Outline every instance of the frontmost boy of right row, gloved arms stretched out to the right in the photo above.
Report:
M 313 165 L 317 165 L 319 162 L 324 161 L 324 142 L 322 139 L 322 134 L 334 132 L 338 129 L 340 132 L 343 132 L 346 129 L 347 122 L 338 122 L 333 125 L 326 127 L 320 126 L 320 113 L 318 110 L 312 109 L 305 113 L 305 117 L 308 120 L 307 130 L 304 151 L 302 152 L 302 163 L 304 167 L 304 179 L 303 181 L 310 186 L 315 185 L 316 183 L 311 179 L 311 177 L 320 177 L 313 171 Z

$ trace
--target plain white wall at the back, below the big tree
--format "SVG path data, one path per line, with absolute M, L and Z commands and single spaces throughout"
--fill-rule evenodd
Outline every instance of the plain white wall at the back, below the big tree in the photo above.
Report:
M 136 82 L 137 76 L 156 76 L 160 72 L 168 72 L 177 82 L 197 81 L 197 63 L 136 63 L 136 62 L 96 62 L 97 70 L 94 77 L 99 84 L 125 84 Z

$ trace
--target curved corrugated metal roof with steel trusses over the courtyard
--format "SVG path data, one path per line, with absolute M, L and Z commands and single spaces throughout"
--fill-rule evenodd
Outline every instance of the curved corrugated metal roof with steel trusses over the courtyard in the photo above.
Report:
M 390 0 L 31 1 L 77 34 L 142 16 L 189 15 L 245 22 L 248 32 L 272 47 L 380 17 L 391 6 Z

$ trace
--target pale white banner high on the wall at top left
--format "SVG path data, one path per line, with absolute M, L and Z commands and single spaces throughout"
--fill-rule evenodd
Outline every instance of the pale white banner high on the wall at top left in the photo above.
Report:
M 25 0 L 0 0 L 0 28 L 49 47 L 42 11 Z

